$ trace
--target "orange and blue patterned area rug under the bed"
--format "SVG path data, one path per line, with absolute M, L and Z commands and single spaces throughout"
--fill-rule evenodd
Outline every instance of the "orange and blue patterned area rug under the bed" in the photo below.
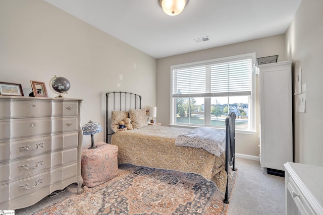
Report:
M 230 171 L 229 194 L 237 171 Z M 224 194 L 200 175 L 132 166 L 32 214 L 226 214 Z

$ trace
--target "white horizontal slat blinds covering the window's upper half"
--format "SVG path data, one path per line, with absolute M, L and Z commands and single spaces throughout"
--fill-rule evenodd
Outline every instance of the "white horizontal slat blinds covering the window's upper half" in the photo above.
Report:
M 252 57 L 173 68 L 173 97 L 249 96 Z

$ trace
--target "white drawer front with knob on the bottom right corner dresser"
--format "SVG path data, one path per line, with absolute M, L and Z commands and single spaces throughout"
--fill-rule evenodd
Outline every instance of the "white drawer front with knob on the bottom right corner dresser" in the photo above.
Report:
M 292 177 L 288 174 L 288 183 L 287 183 L 287 189 L 292 196 L 295 204 L 297 205 L 297 208 L 301 212 L 301 214 L 315 214 L 312 207 L 310 206 L 309 202 L 295 183 Z

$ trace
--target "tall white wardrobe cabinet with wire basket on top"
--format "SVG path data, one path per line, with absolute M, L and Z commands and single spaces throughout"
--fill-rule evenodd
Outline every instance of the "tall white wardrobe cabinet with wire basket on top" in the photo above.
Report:
M 260 166 L 284 171 L 293 161 L 292 61 L 257 65 L 260 95 Z

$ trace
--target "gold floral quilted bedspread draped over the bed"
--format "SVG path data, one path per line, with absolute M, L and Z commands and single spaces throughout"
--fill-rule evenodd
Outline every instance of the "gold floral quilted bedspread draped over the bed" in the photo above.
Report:
M 225 192 L 225 153 L 218 157 L 204 149 L 175 145 L 178 135 L 191 130 L 148 125 L 118 131 L 112 135 L 111 144 L 119 148 L 118 163 L 196 173 L 215 182 Z

